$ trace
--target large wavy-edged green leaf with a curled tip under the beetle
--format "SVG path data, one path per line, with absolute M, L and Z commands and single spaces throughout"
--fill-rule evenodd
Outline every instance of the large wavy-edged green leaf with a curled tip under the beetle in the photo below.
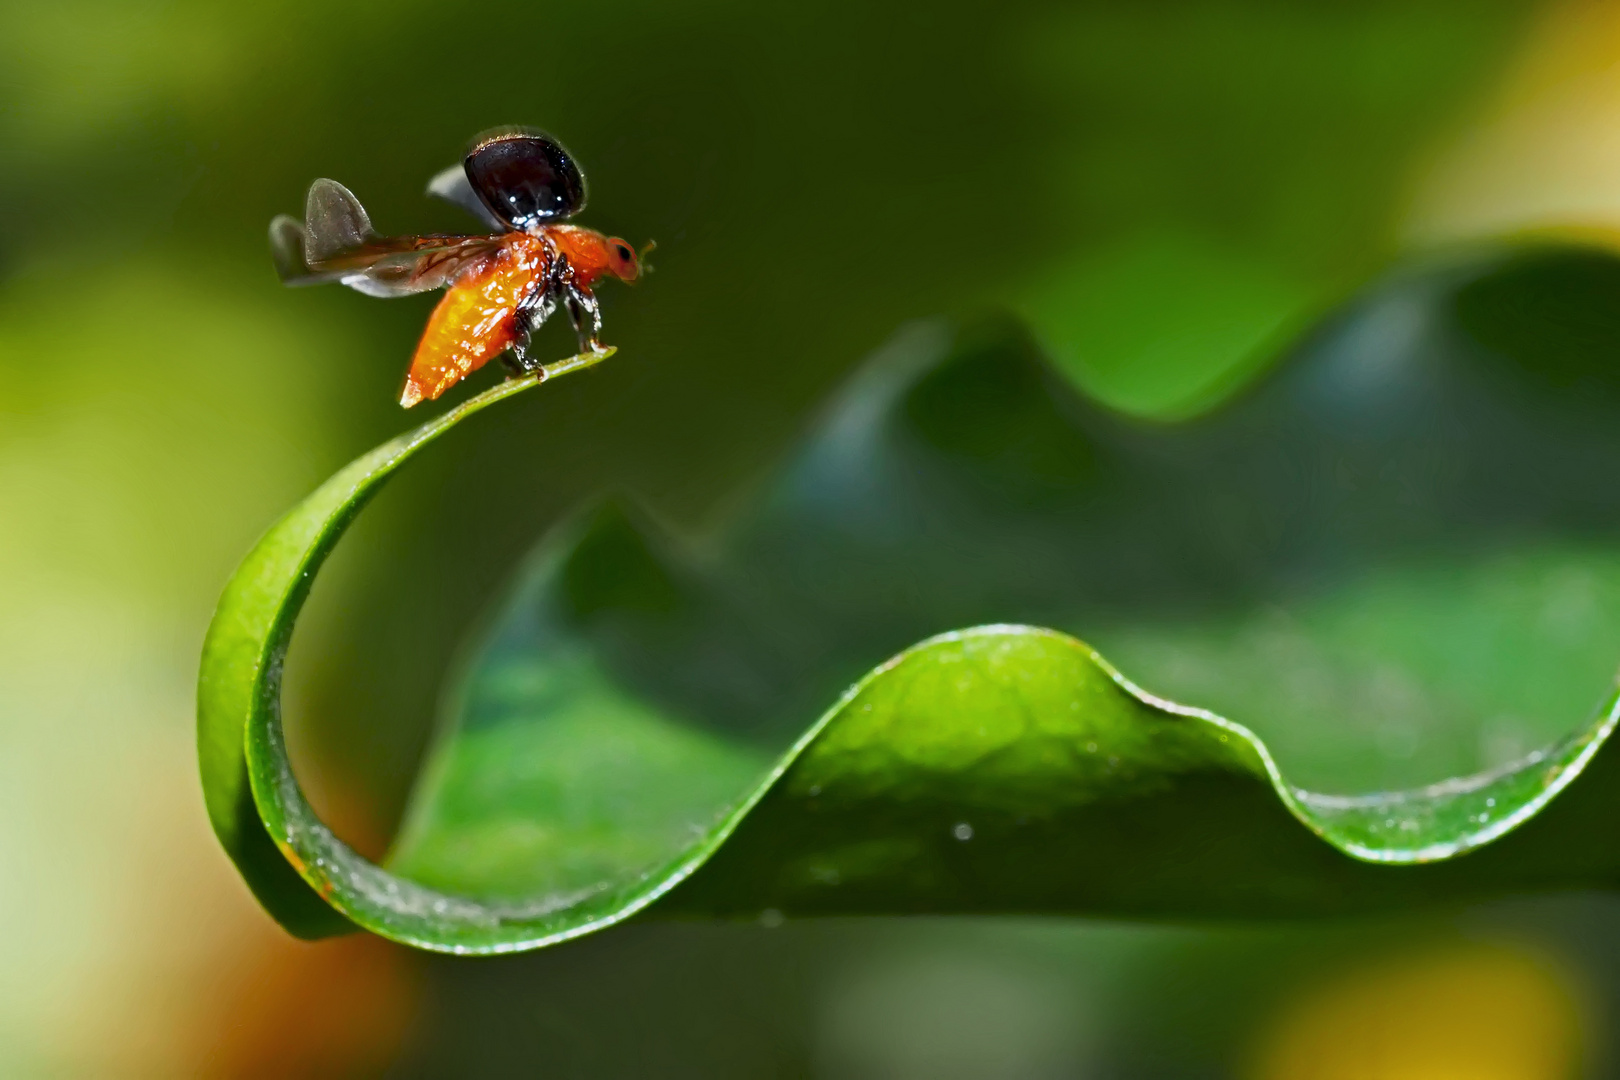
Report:
M 1599 753 L 1620 606 L 1586 601 L 1620 583 L 1601 495 L 1620 466 L 1614 313 L 1614 259 L 1432 267 L 1174 427 L 1076 398 L 1016 327 L 917 327 L 708 554 L 617 502 L 541 546 L 457 683 L 382 870 L 298 792 L 279 657 L 369 491 L 502 387 L 352 465 L 238 572 L 204 654 L 215 829 L 295 933 L 343 926 L 324 899 L 395 941 L 480 954 L 654 902 L 1260 916 L 1609 886 L 1620 855 L 1592 836 L 1620 811 Z M 1541 622 L 1479 617 L 1502 597 Z M 1273 610 L 1328 646 L 1304 691 L 1291 654 L 1233 662 Z M 1090 627 L 1155 687 L 1197 685 L 1202 648 L 1231 669 L 1204 703 L 1259 703 L 1278 735 L 1392 712 L 1340 693 L 1366 672 L 1382 685 L 1380 649 L 1406 654 L 1419 712 L 1520 693 L 1568 730 L 1599 708 L 1479 776 L 1330 797 L 1285 780 L 1246 727 L 1144 693 L 1058 630 L 951 631 L 872 669 L 996 617 Z M 1507 674 L 1481 675 L 1481 656 Z M 1520 656 L 1552 664 L 1528 696 Z M 1315 714 L 1267 716 L 1299 703 Z

